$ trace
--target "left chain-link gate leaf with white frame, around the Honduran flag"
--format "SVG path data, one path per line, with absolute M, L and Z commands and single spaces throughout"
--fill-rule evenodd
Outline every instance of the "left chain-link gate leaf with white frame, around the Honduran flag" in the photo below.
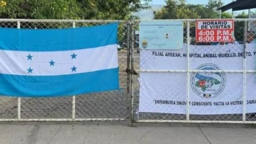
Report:
M 56 29 L 118 22 L 120 89 L 56 98 L 0 97 L 0 121 L 124 121 L 128 118 L 127 46 L 130 22 L 108 20 L 1 19 L 2 28 Z

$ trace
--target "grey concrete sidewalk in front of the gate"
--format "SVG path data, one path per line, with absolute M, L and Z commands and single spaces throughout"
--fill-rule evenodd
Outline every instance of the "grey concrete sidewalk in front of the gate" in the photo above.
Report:
M 0 144 L 255 144 L 256 129 L 240 124 L 127 122 L 0 123 Z

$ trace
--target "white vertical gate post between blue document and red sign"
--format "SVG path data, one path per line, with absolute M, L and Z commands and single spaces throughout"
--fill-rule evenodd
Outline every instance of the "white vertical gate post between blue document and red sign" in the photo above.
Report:
M 190 101 L 190 22 L 187 21 L 187 114 L 186 120 L 189 121 L 189 101 Z

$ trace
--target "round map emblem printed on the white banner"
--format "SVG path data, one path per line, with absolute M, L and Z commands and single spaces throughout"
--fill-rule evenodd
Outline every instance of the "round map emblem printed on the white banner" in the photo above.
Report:
M 222 70 L 215 64 L 203 64 L 196 70 Z M 203 98 L 213 98 L 218 96 L 226 85 L 226 75 L 224 72 L 193 72 L 190 80 L 194 93 Z

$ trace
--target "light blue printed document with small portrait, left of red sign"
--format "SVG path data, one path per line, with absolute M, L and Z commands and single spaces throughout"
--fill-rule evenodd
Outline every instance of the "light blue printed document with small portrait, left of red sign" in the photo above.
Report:
M 177 50 L 183 46 L 182 21 L 141 21 L 140 48 Z

